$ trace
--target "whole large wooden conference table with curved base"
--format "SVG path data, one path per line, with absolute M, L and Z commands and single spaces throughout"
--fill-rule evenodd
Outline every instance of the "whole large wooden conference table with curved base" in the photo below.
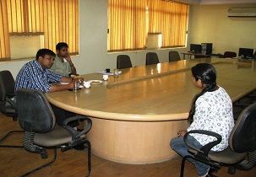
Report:
M 200 92 L 192 83 L 190 68 L 199 62 L 212 63 L 217 84 L 232 101 L 256 88 L 254 61 L 236 59 L 192 59 L 131 67 L 119 77 L 92 84 L 77 92 L 47 93 L 53 105 L 88 115 L 92 153 L 124 164 L 152 164 L 173 158 L 170 140 L 188 127 L 191 100 Z M 85 81 L 102 75 L 83 75 Z

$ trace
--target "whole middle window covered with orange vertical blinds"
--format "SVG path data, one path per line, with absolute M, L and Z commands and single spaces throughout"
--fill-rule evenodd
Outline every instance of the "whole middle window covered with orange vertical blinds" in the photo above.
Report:
M 188 4 L 166 0 L 109 0 L 108 51 L 145 49 L 148 34 L 161 47 L 185 46 Z

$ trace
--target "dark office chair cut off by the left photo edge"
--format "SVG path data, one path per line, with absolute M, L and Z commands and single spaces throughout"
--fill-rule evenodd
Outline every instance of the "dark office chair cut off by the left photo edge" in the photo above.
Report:
M 0 111 L 3 115 L 13 117 L 17 121 L 17 110 L 14 98 L 14 78 L 11 72 L 4 70 L 0 72 Z M 9 131 L 0 139 L 3 142 L 8 136 L 24 131 Z M 23 148 L 22 146 L 0 145 L 0 148 Z

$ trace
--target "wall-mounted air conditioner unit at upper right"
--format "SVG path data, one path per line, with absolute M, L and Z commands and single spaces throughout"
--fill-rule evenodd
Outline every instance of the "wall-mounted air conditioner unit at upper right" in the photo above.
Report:
M 256 17 L 256 8 L 229 8 L 228 17 Z

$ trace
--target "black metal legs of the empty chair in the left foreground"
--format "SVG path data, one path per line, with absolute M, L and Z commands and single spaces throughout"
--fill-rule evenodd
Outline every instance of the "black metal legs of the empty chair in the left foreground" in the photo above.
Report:
M 89 177 L 90 176 L 90 171 L 91 171 L 91 164 L 90 164 L 90 155 L 91 155 L 91 153 L 90 153 L 90 151 L 91 151 L 90 150 L 90 142 L 88 140 L 84 140 L 84 144 L 87 144 L 87 148 L 88 148 L 87 149 L 88 150 L 88 163 L 87 163 L 88 164 L 88 174 L 86 174 L 85 177 Z M 53 150 L 54 150 L 54 156 L 53 156 L 53 158 L 52 158 L 52 160 L 50 162 L 48 162 L 46 164 L 42 164 L 40 167 L 37 167 L 36 169 L 30 170 L 29 172 L 27 172 L 25 174 L 22 174 L 20 177 L 28 176 L 28 175 L 33 174 L 34 172 L 36 172 L 36 171 L 38 171 L 40 169 L 43 169 L 43 168 L 53 164 L 55 162 L 56 158 L 57 158 L 57 148 L 54 148 Z

